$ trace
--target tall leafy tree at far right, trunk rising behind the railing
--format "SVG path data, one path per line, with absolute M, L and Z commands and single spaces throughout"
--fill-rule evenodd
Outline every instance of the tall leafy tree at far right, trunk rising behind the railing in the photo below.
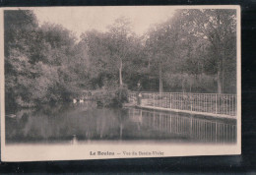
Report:
M 235 45 L 233 45 L 236 33 L 235 18 L 235 10 L 183 10 L 181 12 L 182 28 L 187 35 L 194 35 L 207 41 L 209 55 L 211 55 L 209 62 L 215 66 L 219 93 L 222 93 L 224 88 L 224 67 L 228 67 L 224 63 L 226 60 L 235 58 Z M 234 42 L 231 43 L 230 39 Z

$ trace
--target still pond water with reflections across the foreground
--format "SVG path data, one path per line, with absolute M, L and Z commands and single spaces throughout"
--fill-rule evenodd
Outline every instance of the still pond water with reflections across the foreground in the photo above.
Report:
M 138 108 L 97 108 L 90 101 L 6 116 L 6 144 L 90 141 L 235 144 L 236 121 Z

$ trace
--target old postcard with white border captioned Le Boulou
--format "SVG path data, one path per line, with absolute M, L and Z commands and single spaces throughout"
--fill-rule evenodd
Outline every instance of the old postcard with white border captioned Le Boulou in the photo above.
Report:
M 239 6 L 0 17 L 2 161 L 241 153 Z

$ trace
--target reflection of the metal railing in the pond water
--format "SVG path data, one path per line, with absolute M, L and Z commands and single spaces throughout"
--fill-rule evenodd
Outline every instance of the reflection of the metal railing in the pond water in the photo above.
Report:
M 235 143 L 236 123 L 228 120 L 202 119 L 192 115 L 131 109 L 131 120 L 139 126 L 161 133 L 161 137 L 176 136 L 192 142 Z

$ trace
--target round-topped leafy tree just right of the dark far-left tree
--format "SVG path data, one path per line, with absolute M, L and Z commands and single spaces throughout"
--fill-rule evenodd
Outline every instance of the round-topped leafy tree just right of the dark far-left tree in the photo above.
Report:
M 47 49 L 40 59 L 42 65 L 39 66 L 41 69 L 38 72 L 41 71 L 37 79 L 38 84 L 45 79 L 50 83 L 46 87 L 44 99 L 51 102 L 69 100 L 72 93 L 80 88 L 77 64 L 84 64 L 83 60 L 74 60 L 78 59 L 75 53 L 76 37 L 70 30 L 54 24 L 43 24 L 37 33 L 41 35 L 42 48 Z

